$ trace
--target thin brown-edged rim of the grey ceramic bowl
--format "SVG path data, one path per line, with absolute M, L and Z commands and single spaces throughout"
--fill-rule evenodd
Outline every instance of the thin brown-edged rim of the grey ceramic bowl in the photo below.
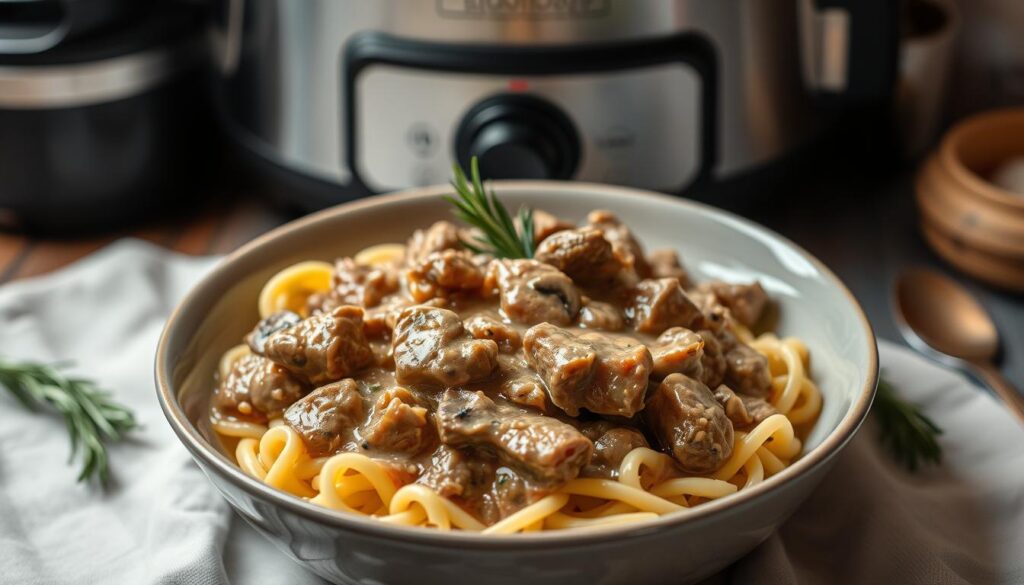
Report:
M 761 484 L 748 490 L 741 490 L 727 498 L 713 500 L 694 507 L 687 513 L 667 514 L 650 520 L 629 524 L 606 529 L 593 531 L 545 531 L 529 534 L 514 535 L 490 535 L 483 537 L 476 533 L 465 533 L 461 531 L 438 531 L 434 529 L 422 529 L 419 527 L 392 526 L 375 520 L 370 517 L 348 514 L 341 510 L 334 510 L 323 506 L 317 506 L 304 501 L 296 496 L 271 488 L 258 479 L 245 474 L 242 469 L 224 455 L 217 452 L 200 434 L 196 425 L 188 420 L 182 409 L 177 394 L 171 383 L 171 371 L 173 365 L 170 364 L 169 345 L 171 338 L 175 335 L 179 326 L 182 308 L 196 302 L 196 299 L 204 294 L 204 291 L 214 288 L 221 288 L 219 281 L 226 279 L 230 267 L 238 263 L 244 256 L 257 253 L 259 250 L 272 245 L 279 238 L 292 234 L 307 226 L 328 221 L 339 215 L 345 215 L 355 210 L 362 210 L 378 206 L 387 206 L 394 203 L 438 197 L 451 190 L 449 185 L 431 185 L 412 190 L 399 191 L 386 195 L 379 195 L 371 198 L 360 199 L 331 207 L 316 213 L 301 217 L 281 225 L 242 246 L 234 252 L 221 259 L 217 265 L 207 273 L 198 283 L 196 283 L 188 293 L 178 302 L 171 312 L 161 333 L 157 346 L 155 378 L 157 393 L 161 409 L 174 429 L 175 434 L 188 449 L 193 457 L 203 463 L 207 473 L 211 470 L 224 480 L 246 492 L 250 497 L 268 502 L 274 506 L 286 508 L 287 510 L 311 519 L 323 525 L 337 529 L 359 533 L 369 537 L 377 537 L 388 540 L 403 541 L 407 544 L 420 544 L 431 546 L 460 546 L 473 549 L 501 549 L 522 551 L 527 549 L 548 548 L 553 545 L 563 545 L 573 547 L 582 544 L 591 544 L 608 540 L 623 540 L 636 538 L 642 535 L 650 535 L 653 532 L 660 532 L 679 525 L 699 523 L 707 520 L 710 516 L 740 508 L 749 505 L 753 501 L 781 488 L 783 485 L 792 484 L 800 476 L 805 475 L 812 469 L 826 463 L 856 433 L 874 398 L 876 385 L 879 375 L 878 343 L 871 325 L 864 314 L 863 308 L 853 296 L 846 285 L 827 266 L 815 256 L 798 246 L 791 240 L 777 233 L 764 227 L 754 221 L 739 217 L 733 213 L 712 207 L 711 205 L 672 197 L 649 191 L 624 187 L 617 185 L 607 185 L 600 183 L 588 183 L 582 181 L 548 181 L 548 180 L 496 180 L 490 181 L 490 185 L 497 192 L 503 190 L 535 191 L 544 193 L 572 193 L 588 192 L 600 193 L 615 197 L 628 196 L 629 198 L 642 198 L 657 203 L 671 203 L 682 207 L 688 207 L 699 214 L 711 214 L 718 220 L 726 223 L 738 224 L 745 229 L 753 231 L 760 236 L 768 236 L 770 239 L 781 242 L 790 248 L 796 250 L 805 259 L 810 261 L 815 268 L 829 283 L 839 289 L 850 302 L 855 315 L 859 318 L 860 325 L 867 341 L 867 375 L 863 381 L 860 392 L 855 395 L 854 403 L 850 410 L 843 416 L 834 428 L 821 442 L 809 453 L 804 454 L 795 463 L 782 471 L 766 478 Z

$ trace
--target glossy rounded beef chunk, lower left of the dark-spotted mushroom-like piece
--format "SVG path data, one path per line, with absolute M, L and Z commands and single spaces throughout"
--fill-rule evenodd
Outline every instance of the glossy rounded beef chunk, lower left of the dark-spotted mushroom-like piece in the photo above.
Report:
M 392 343 L 395 377 L 404 384 L 465 384 L 486 378 L 498 365 L 498 344 L 469 338 L 459 316 L 445 308 L 402 310 Z

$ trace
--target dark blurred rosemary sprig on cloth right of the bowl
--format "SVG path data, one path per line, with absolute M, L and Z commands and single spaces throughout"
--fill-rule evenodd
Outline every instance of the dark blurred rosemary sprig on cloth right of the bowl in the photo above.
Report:
M 908 470 L 916 470 L 920 462 L 937 465 L 942 461 L 942 447 L 937 440 L 942 429 L 914 405 L 899 398 L 885 378 L 879 379 L 871 412 L 881 426 L 882 445 Z

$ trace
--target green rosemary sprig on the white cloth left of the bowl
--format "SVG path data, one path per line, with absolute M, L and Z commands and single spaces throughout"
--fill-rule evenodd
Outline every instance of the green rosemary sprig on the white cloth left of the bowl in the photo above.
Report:
M 65 419 L 71 438 L 69 463 L 82 452 L 79 482 L 95 475 L 105 485 L 109 477 L 106 442 L 120 441 L 137 427 L 132 412 L 110 398 L 91 380 L 71 378 L 60 366 L 0 360 L 0 386 L 7 388 L 26 408 L 42 406 L 56 410 Z

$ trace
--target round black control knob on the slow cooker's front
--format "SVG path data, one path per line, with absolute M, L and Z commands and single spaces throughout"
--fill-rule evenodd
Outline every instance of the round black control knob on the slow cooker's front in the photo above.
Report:
M 570 178 L 580 162 L 572 121 L 530 95 L 496 95 L 474 106 L 456 134 L 464 169 L 477 158 L 484 178 Z

